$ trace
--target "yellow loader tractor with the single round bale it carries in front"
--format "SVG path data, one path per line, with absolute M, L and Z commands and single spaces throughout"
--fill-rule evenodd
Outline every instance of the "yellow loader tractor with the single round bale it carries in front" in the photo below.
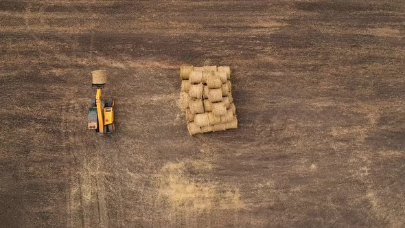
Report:
M 112 98 L 102 101 L 101 94 L 107 82 L 107 74 L 104 70 L 92 71 L 93 82 L 91 87 L 95 89 L 95 99 L 91 101 L 91 108 L 87 115 L 90 130 L 108 135 L 115 131 L 114 124 L 114 100 Z

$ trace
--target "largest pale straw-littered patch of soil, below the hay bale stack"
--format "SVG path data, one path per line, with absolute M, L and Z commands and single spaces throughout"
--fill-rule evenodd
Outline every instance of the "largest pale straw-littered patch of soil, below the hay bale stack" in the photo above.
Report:
M 194 172 L 209 172 L 213 166 L 205 161 L 180 161 L 166 163 L 157 178 L 158 198 L 167 201 L 173 209 L 202 212 L 214 207 L 240 209 L 243 207 L 240 192 L 235 187 L 224 187 L 216 182 L 196 181 L 187 176 L 187 168 Z

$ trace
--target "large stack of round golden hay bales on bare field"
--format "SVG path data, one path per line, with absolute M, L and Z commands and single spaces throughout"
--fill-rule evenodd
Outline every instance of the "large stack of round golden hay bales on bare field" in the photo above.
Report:
M 181 111 L 190 135 L 238 128 L 229 66 L 182 66 Z

